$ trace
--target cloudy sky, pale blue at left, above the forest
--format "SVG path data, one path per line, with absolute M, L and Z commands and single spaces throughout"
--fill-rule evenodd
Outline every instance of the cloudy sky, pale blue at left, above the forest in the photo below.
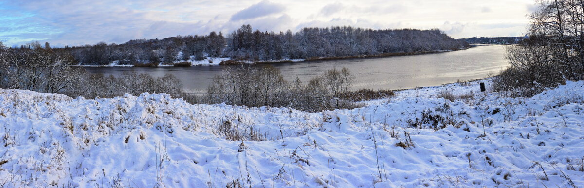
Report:
M 0 0 L 0 41 L 52 46 L 124 43 L 177 35 L 225 35 L 303 27 L 438 28 L 455 39 L 523 36 L 534 0 Z

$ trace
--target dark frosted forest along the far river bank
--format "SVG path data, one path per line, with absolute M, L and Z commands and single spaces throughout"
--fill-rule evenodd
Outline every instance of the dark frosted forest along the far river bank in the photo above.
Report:
M 310 27 L 296 33 L 261 32 L 250 25 L 225 34 L 176 36 L 165 39 L 138 39 L 123 44 L 98 43 L 85 46 L 53 48 L 71 55 L 77 64 L 120 65 L 172 64 L 206 58 L 230 58 L 235 61 L 300 60 L 349 57 L 384 53 L 452 50 L 469 47 L 439 29 L 362 29 L 359 27 Z M 11 48 L 26 53 L 43 48 L 39 42 Z M 46 43 L 44 48 L 50 48 Z

